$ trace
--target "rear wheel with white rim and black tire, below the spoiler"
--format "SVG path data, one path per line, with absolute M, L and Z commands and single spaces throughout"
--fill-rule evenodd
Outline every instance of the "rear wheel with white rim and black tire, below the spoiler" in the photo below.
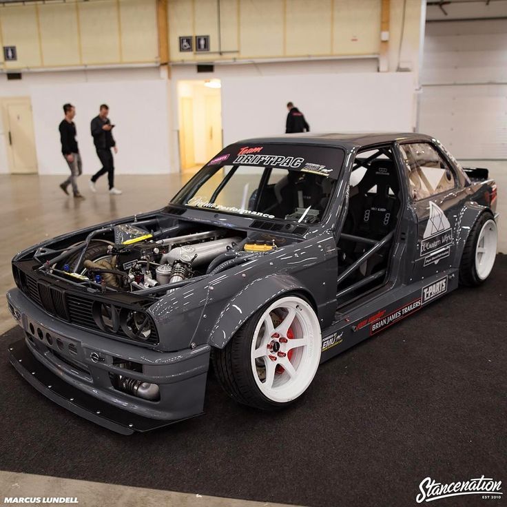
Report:
M 459 282 L 476 287 L 488 278 L 497 256 L 497 238 L 493 215 L 486 212 L 479 216 L 466 238 L 459 266 Z

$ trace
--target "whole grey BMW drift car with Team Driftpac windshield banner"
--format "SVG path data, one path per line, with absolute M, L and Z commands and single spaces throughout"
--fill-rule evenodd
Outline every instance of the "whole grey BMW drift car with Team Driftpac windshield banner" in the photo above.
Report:
M 10 361 L 124 434 L 202 413 L 210 362 L 234 400 L 282 408 L 320 363 L 484 282 L 496 198 L 421 134 L 235 143 L 163 209 L 15 256 Z

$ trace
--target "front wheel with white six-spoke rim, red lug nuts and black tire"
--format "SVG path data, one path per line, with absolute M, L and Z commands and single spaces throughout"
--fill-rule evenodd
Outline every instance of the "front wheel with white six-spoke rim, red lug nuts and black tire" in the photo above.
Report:
M 234 400 L 273 410 L 297 400 L 320 362 L 320 324 L 311 304 L 296 294 L 256 311 L 224 349 L 214 350 L 220 384 Z

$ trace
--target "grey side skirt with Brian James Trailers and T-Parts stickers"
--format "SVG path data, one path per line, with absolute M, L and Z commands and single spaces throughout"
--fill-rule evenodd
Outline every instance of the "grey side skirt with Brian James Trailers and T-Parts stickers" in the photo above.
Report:
M 457 269 L 449 269 L 426 280 L 395 287 L 355 307 L 349 313 L 340 314 L 337 322 L 322 331 L 320 362 L 391 327 L 457 286 Z

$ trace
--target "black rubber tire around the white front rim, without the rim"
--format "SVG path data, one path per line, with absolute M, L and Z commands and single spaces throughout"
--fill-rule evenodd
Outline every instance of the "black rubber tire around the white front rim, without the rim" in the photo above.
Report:
M 300 294 L 284 294 L 309 302 Z M 282 299 L 282 298 L 279 298 Z M 251 344 L 259 319 L 269 309 L 273 301 L 265 304 L 236 331 L 233 338 L 224 349 L 213 349 L 211 362 L 218 382 L 224 391 L 236 402 L 258 408 L 262 411 L 276 411 L 296 402 L 298 398 L 289 402 L 274 402 L 269 400 L 259 389 L 251 368 Z M 312 309 L 313 311 L 313 309 Z M 316 318 L 316 315 L 315 315 Z M 320 358 L 320 342 L 318 355 Z M 312 377 L 313 378 L 313 377 Z

